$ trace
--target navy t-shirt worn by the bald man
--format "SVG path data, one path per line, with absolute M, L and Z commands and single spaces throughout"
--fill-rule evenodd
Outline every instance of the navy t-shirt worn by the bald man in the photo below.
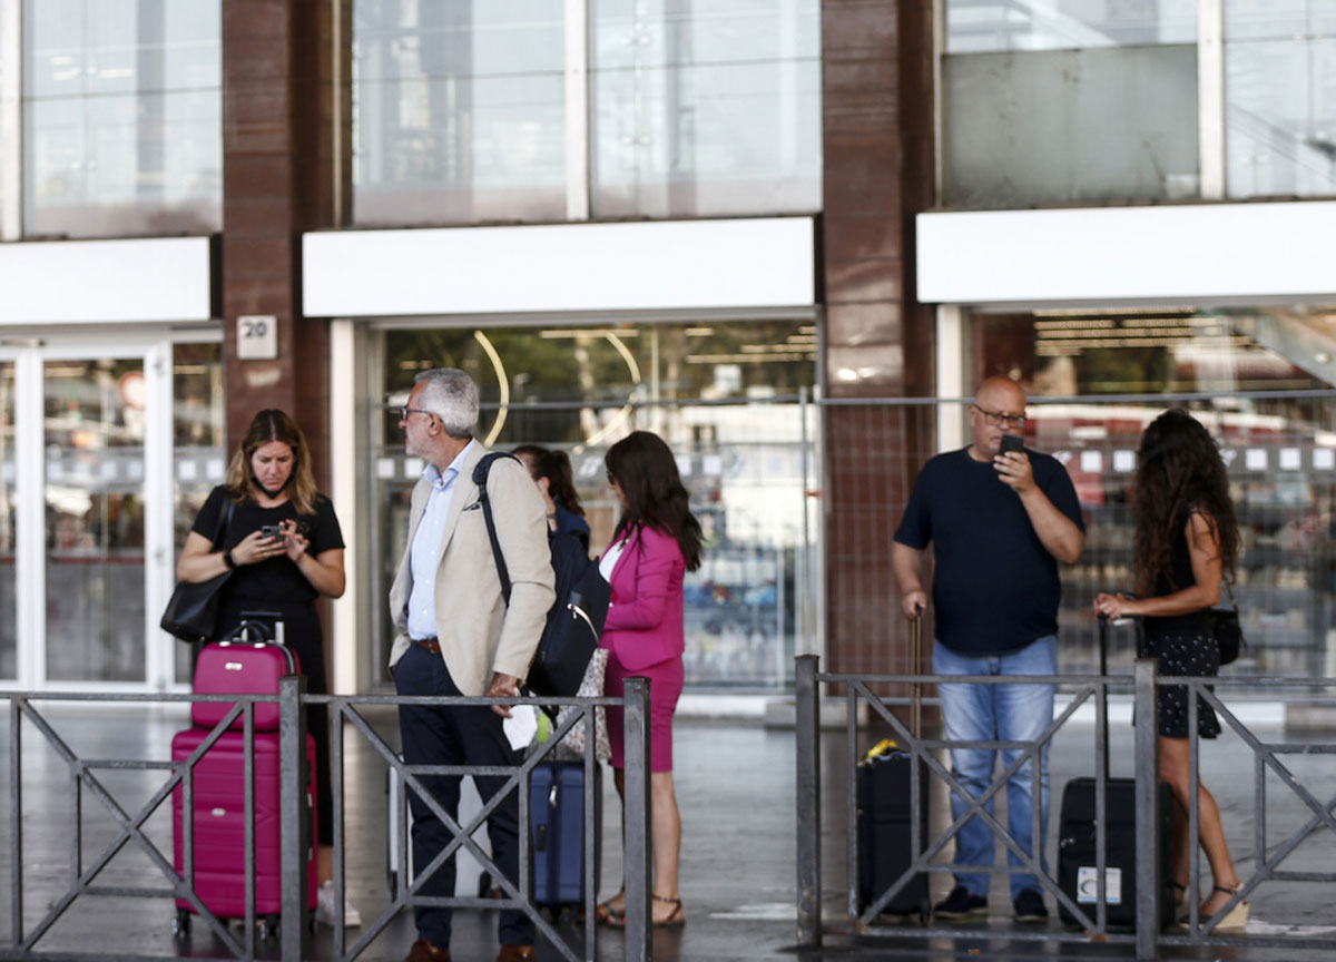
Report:
M 1066 469 L 1026 454 L 1039 490 L 1085 530 Z M 951 651 L 997 655 L 1058 631 L 1058 561 L 991 461 L 961 449 L 923 465 L 895 540 L 915 549 L 931 542 L 937 639 Z

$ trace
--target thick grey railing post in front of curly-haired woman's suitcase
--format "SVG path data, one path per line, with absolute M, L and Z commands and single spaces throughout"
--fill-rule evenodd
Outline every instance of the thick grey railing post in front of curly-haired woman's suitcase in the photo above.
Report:
M 1156 726 L 1156 659 L 1137 659 L 1137 962 L 1152 962 L 1160 935 L 1160 739 Z

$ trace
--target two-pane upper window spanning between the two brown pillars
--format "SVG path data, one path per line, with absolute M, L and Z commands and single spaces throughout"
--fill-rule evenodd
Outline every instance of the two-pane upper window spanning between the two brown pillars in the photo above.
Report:
M 581 171 L 596 218 L 820 206 L 816 0 L 591 0 L 574 99 L 560 0 L 353 9 L 358 224 L 564 220 Z

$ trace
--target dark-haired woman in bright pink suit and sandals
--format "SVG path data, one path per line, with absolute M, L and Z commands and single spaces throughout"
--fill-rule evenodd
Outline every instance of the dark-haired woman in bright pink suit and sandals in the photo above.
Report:
M 672 716 L 683 680 L 681 580 L 700 567 L 700 522 L 687 506 L 677 462 L 657 434 L 633 432 L 608 449 L 608 484 L 621 504 L 621 517 L 600 571 L 612 585 L 612 604 L 599 644 L 608 649 L 605 689 L 620 692 L 628 675 L 651 679 L 649 824 L 655 885 L 651 921 L 681 925 L 677 856 L 681 816 L 672 783 Z M 623 711 L 608 708 L 613 780 L 625 790 L 621 739 Z M 599 919 L 625 923 L 627 895 L 617 893 L 599 906 Z

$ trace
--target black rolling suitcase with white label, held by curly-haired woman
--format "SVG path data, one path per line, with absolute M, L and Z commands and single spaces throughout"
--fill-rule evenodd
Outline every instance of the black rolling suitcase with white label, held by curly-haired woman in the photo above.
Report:
M 1109 621 L 1100 619 L 1100 673 L 1108 675 Z M 1105 719 L 1108 722 L 1108 719 Z M 1145 722 L 1154 724 L 1154 719 Z M 1109 926 L 1137 923 L 1137 782 L 1109 775 L 1109 726 L 1104 730 L 1104 774 L 1108 784 L 1105 818 L 1109 822 L 1105 844 L 1105 906 Z M 1098 846 L 1096 844 L 1097 782 L 1093 778 L 1071 779 L 1062 788 L 1062 812 L 1058 823 L 1058 886 L 1085 911 L 1092 922 L 1098 909 Z M 1173 792 L 1160 783 L 1160 925 L 1173 922 L 1173 891 L 1169 889 L 1169 866 L 1173 850 Z M 1058 903 L 1058 917 L 1065 925 L 1079 921 Z

